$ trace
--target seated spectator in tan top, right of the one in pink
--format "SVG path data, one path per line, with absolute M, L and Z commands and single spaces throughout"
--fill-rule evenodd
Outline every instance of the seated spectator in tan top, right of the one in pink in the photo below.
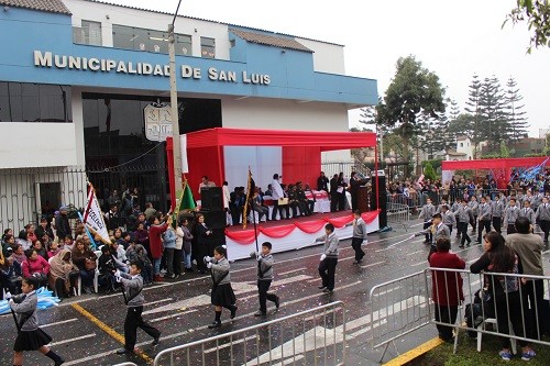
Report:
M 62 249 L 50 259 L 50 287 L 55 289 L 59 299 L 70 296 L 70 289 L 76 287 L 80 271 L 73 264 L 69 249 Z

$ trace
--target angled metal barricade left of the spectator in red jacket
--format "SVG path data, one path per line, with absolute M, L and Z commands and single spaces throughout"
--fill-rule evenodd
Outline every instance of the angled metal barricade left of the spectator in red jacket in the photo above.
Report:
M 376 285 L 371 289 L 372 347 L 384 347 L 381 362 L 391 344 L 430 323 L 428 278 L 426 271 Z

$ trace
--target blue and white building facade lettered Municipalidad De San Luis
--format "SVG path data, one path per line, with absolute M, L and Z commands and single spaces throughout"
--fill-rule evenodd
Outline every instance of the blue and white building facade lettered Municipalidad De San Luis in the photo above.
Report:
M 169 102 L 173 14 L 92 0 L 0 4 L 0 226 L 82 207 L 86 177 L 101 200 L 136 187 L 142 203 L 165 208 L 165 143 L 151 140 L 162 131 L 144 109 Z M 182 134 L 348 131 L 348 110 L 376 103 L 376 81 L 346 76 L 339 44 L 177 16 L 175 49 Z M 336 154 L 327 158 L 349 158 Z

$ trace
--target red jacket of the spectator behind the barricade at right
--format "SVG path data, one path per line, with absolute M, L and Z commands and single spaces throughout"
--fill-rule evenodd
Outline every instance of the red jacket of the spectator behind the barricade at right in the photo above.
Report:
M 436 252 L 429 258 L 430 267 L 464 269 L 466 264 L 457 254 Z M 440 306 L 457 307 L 464 300 L 462 276 L 459 273 L 432 270 L 431 298 Z

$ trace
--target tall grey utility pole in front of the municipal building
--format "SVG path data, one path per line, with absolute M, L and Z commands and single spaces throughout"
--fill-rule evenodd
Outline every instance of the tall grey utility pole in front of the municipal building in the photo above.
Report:
M 182 180 L 182 142 L 179 141 L 179 119 L 177 110 L 177 88 L 176 88 L 176 37 L 174 34 L 174 23 L 176 21 L 177 11 L 182 0 L 177 3 L 176 12 L 172 23 L 168 24 L 168 55 L 169 55 L 169 70 L 170 70 L 170 114 L 172 114 L 172 136 L 174 142 L 174 177 L 176 184 L 176 192 L 183 188 Z

